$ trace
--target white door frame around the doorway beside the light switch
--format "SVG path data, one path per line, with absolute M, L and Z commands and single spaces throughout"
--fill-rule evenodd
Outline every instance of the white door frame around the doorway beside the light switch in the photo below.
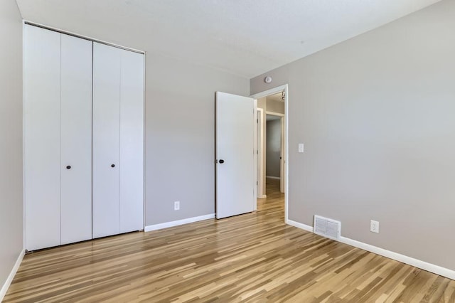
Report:
M 259 99 L 262 97 L 267 97 L 268 95 L 274 95 L 277 92 L 283 92 L 284 91 L 284 151 L 283 151 L 283 161 L 284 161 L 284 222 L 287 222 L 288 220 L 288 206 L 289 206 L 289 137 L 288 137 L 288 117 L 289 117 L 289 88 L 287 84 L 280 85 L 277 87 L 273 87 L 269 90 L 264 90 L 262 92 L 257 92 L 253 95 L 250 95 L 250 97 L 254 99 Z M 257 142 L 257 137 L 255 137 L 255 141 Z

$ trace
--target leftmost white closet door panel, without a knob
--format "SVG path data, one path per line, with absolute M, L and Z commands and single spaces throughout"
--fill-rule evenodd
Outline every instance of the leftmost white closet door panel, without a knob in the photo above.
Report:
M 26 249 L 60 245 L 60 33 L 24 26 Z

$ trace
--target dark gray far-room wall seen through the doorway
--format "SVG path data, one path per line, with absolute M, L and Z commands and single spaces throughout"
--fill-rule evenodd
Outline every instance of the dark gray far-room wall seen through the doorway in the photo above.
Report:
M 281 119 L 267 121 L 267 165 L 266 175 L 280 177 L 280 162 L 282 150 Z

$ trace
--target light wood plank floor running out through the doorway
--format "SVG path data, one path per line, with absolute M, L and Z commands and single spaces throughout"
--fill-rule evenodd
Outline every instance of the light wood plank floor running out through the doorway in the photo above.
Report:
M 26 255 L 4 302 L 455 302 L 455 281 L 258 211 Z

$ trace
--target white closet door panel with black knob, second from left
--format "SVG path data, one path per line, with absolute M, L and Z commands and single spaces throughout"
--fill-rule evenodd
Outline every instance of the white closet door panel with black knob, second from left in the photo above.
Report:
M 92 238 L 92 41 L 61 37 L 61 244 Z

